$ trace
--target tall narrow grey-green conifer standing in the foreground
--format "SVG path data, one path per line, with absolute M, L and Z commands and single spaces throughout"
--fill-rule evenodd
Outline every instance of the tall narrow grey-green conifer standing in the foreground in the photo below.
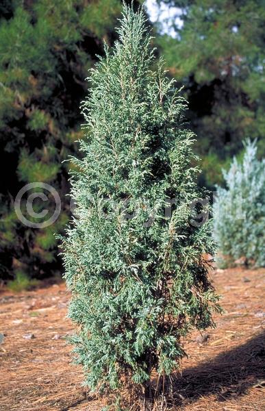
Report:
M 186 102 L 162 62 L 153 70 L 142 10 L 124 8 L 118 36 L 90 74 L 84 158 L 73 159 L 77 207 L 63 240 L 71 342 L 97 391 L 147 387 L 153 371 L 161 381 L 185 354 L 181 339 L 214 325 L 220 310 L 203 259 L 214 253 L 210 225 L 192 223 L 198 170 Z

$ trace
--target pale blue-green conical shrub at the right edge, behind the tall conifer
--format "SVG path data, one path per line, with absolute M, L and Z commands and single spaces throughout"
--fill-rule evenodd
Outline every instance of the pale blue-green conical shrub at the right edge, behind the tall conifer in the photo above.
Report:
M 248 141 L 242 163 L 234 158 L 223 175 L 227 188 L 217 187 L 214 203 L 221 259 L 265 266 L 265 160 L 257 160 L 256 143 Z

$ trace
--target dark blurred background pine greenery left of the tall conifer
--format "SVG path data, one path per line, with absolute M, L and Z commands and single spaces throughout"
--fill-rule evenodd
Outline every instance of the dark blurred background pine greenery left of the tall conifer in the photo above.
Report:
M 1 1 L 1 278 L 61 269 L 54 233 L 69 215 L 69 164 L 62 160 L 77 151 L 84 78 L 103 53 L 103 38 L 112 44 L 120 13 L 120 0 Z M 18 190 L 31 182 L 51 184 L 60 195 L 62 212 L 52 226 L 26 227 L 14 212 Z M 47 205 L 52 214 L 53 199 Z

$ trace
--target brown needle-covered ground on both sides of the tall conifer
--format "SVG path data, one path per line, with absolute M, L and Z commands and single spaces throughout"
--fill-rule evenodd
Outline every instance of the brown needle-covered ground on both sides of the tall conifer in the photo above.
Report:
M 265 410 L 265 270 L 217 270 L 212 279 L 227 312 L 204 343 L 198 332 L 186 341 L 173 410 Z M 73 332 L 68 299 L 64 284 L 0 292 L 1 411 L 101 410 L 104 401 L 81 387 L 82 369 L 63 339 Z

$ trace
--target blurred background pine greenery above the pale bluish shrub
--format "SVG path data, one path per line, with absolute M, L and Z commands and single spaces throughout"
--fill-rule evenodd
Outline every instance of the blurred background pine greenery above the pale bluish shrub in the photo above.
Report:
M 258 154 L 265 153 L 264 1 L 155 3 L 171 10 L 168 29 L 156 42 L 171 75 L 185 86 L 205 182 L 223 184 L 222 168 L 242 155 L 244 139 L 257 138 Z

